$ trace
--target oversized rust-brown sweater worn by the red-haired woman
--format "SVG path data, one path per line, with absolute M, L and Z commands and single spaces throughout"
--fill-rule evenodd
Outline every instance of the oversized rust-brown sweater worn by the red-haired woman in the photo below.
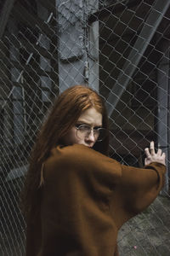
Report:
M 165 172 L 159 163 L 122 166 L 83 145 L 54 148 L 26 256 L 117 256 L 118 230 L 156 199 Z

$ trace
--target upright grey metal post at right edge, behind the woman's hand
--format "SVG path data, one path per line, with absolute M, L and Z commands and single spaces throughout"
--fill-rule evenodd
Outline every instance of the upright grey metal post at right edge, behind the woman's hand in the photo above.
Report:
M 162 150 L 166 153 L 167 156 L 167 174 L 166 174 L 166 182 L 164 189 L 161 191 L 162 195 L 167 195 L 169 189 L 169 143 L 170 143 L 170 133 L 169 129 L 169 54 L 170 50 L 168 48 L 169 42 L 167 40 L 161 40 L 161 51 L 163 53 L 163 57 L 161 58 L 161 62 L 158 67 L 158 87 L 157 87 L 157 102 L 158 102 L 158 115 L 157 115 L 157 139 L 158 139 L 158 147 L 162 148 Z

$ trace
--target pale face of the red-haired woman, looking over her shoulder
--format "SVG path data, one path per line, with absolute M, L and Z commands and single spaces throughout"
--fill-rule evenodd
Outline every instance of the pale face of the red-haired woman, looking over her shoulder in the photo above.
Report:
M 65 145 L 82 144 L 92 148 L 97 141 L 93 129 L 91 129 L 88 134 L 84 135 L 83 132 L 81 134 L 80 130 L 77 131 L 77 127 L 79 125 L 89 125 L 90 128 L 102 127 L 102 114 L 95 108 L 88 108 L 82 112 L 76 125 L 74 125 L 71 130 L 67 132 L 65 137 L 62 138 L 63 143 Z

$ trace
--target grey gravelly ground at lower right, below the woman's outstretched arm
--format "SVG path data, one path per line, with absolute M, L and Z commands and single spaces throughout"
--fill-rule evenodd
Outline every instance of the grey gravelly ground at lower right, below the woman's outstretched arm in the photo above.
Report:
M 170 198 L 159 195 L 152 205 L 122 226 L 120 256 L 170 255 Z

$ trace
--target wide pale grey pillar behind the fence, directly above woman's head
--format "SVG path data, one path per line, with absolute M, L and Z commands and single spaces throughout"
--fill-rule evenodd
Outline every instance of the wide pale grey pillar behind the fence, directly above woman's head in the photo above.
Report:
M 87 26 L 88 14 L 94 2 L 96 1 L 56 1 L 60 92 L 75 84 L 87 84 L 99 89 L 98 22 Z

